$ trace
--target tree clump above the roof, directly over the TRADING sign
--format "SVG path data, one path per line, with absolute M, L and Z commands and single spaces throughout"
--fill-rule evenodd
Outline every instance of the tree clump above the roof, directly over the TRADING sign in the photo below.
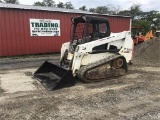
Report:
M 56 7 L 55 1 L 53 0 L 43 0 L 42 2 L 35 2 L 33 5 L 35 6 L 48 6 L 48 7 Z

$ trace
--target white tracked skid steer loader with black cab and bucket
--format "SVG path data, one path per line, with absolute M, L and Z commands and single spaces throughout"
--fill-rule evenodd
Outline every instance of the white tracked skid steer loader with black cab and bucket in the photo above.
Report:
M 108 20 L 95 16 L 83 15 L 71 21 L 71 40 L 61 47 L 60 64 L 45 61 L 35 78 L 48 90 L 56 90 L 73 86 L 77 78 L 97 82 L 127 73 L 133 52 L 129 31 L 111 33 Z

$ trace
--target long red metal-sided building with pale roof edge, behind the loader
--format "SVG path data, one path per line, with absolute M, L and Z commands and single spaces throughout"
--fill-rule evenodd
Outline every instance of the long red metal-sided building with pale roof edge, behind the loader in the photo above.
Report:
M 60 52 L 70 40 L 71 18 L 82 14 L 105 17 L 112 32 L 130 30 L 131 18 L 59 8 L 0 3 L 0 56 Z M 60 36 L 31 36 L 30 19 L 60 20 Z

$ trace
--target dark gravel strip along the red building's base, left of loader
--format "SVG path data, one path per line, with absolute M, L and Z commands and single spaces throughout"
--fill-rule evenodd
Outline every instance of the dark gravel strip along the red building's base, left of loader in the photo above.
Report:
M 28 67 L 37 67 L 44 63 L 44 61 L 49 61 L 51 63 L 58 63 L 60 59 L 59 54 L 49 54 L 49 55 L 35 55 L 35 56 L 19 56 L 19 57 L 9 57 L 0 59 L 0 70 L 11 70 L 20 69 Z

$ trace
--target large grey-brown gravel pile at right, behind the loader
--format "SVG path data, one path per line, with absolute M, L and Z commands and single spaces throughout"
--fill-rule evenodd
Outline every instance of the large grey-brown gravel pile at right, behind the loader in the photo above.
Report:
M 133 63 L 160 66 L 160 38 L 154 38 L 135 46 Z

